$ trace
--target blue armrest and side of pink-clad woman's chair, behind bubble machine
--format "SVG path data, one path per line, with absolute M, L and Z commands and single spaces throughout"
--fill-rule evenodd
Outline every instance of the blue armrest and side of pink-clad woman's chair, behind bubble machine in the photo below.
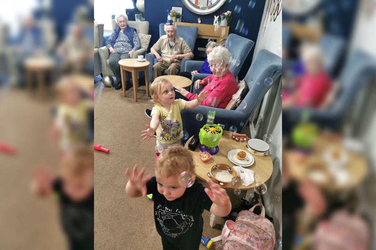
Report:
M 238 129 L 237 132 L 243 133 L 244 129 L 247 127 L 250 114 L 238 110 L 212 108 L 199 105 L 194 109 L 182 109 L 180 111 L 183 129 L 186 130 L 190 136 L 194 135 L 195 133 L 199 133 L 200 128 L 206 124 L 206 118 L 209 110 L 215 111 L 214 123 L 223 124 L 225 126 L 225 130 L 229 130 L 231 126 L 236 126 Z M 197 121 L 194 118 L 196 117 L 196 114 L 202 114 L 204 119 L 202 121 Z

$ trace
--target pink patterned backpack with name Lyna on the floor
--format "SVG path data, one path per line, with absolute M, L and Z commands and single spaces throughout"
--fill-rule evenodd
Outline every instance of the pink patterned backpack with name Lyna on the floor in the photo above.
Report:
M 257 206 L 262 206 L 260 215 L 253 213 Z M 272 250 L 276 241 L 273 223 L 265 218 L 265 208 L 260 203 L 241 211 L 232 230 L 223 230 L 223 250 Z

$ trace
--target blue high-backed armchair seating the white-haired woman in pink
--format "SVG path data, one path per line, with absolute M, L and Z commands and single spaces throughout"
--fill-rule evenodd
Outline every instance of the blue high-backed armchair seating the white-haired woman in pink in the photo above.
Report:
M 206 115 L 209 110 L 215 111 L 215 124 L 223 124 L 228 130 L 230 126 L 236 126 L 238 132 L 242 133 L 248 124 L 248 120 L 255 111 L 258 104 L 264 98 L 270 86 L 264 84 L 257 85 L 257 82 L 264 82 L 267 77 L 273 78 L 273 82 L 278 82 L 282 73 L 282 59 L 270 51 L 262 49 L 256 55 L 251 64 L 244 81 L 246 82 L 249 92 L 244 97 L 243 102 L 236 110 L 212 108 L 208 106 L 197 106 L 194 109 L 183 109 L 181 111 L 184 130 L 190 135 L 198 133 L 199 129 L 206 124 Z M 194 74 L 194 76 L 199 74 Z M 198 93 L 202 88 L 194 90 L 192 93 Z M 196 114 L 203 114 L 205 119 L 196 120 Z

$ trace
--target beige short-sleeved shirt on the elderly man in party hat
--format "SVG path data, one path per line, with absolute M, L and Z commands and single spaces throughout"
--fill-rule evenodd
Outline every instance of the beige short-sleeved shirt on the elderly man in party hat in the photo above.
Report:
M 180 36 L 175 35 L 175 44 L 170 48 L 169 40 L 167 35 L 163 35 L 159 38 L 159 40 L 153 45 L 153 48 L 156 51 L 162 52 L 162 60 L 170 61 L 170 57 L 173 55 L 181 55 L 192 52 L 189 48 L 188 44 L 184 41 L 184 39 Z M 177 59 L 177 61 L 181 61 L 182 59 Z

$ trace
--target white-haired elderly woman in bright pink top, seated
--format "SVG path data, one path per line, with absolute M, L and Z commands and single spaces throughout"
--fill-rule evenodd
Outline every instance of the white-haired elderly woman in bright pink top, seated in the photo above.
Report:
M 200 85 L 205 85 L 202 91 L 208 91 L 209 96 L 201 103 L 203 106 L 211 106 L 216 108 L 226 108 L 230 102 L 232 95 L 238 90 L 235 77 L 229 71 L 230 52 L 228 49 L 217 46 L 208 55 L 210 70 L 213 75 L 197 80 L 194 83 L 196 89 Z M 184 88 L 175 87 L 175 99 L 194 100 L 196 94 L 186 91 Z

